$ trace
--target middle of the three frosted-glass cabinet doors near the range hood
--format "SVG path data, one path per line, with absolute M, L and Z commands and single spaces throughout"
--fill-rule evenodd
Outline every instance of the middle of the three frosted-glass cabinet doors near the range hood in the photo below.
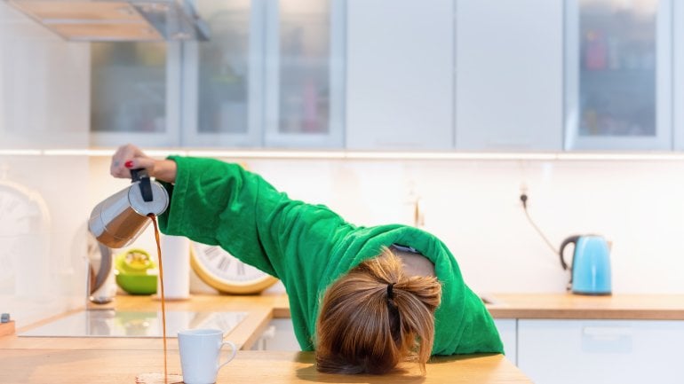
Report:
M 183 46 L 183 124 L 187 146 L 261 146 L 263 1 L 200 0 L 208 42 Z

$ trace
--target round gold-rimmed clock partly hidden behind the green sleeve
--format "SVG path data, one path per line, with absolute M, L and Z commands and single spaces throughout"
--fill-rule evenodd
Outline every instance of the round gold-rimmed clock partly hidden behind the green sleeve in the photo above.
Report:
M 190 263 L 205 283 L 227 294 L 256 294 L 278 281 L 266 272 L 241 262 L 219 246 L 192 241 Z

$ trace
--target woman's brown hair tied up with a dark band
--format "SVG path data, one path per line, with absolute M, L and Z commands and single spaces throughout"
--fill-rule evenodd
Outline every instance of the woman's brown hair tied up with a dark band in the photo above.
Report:
M 382 253 L 338 278 L 322 299 L 316 368 L 330 373 L 385 373 L 404 360 L 425 372 L 434 341 L 437 278 L 404 274 L 402 260 Z

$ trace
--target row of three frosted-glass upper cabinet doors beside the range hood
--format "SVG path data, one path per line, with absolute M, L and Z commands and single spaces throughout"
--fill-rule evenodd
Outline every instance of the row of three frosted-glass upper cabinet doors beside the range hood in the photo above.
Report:
M 93 44 L 92 144 L 343 145 L 343 2 L 195 5 L 209 42 Z

